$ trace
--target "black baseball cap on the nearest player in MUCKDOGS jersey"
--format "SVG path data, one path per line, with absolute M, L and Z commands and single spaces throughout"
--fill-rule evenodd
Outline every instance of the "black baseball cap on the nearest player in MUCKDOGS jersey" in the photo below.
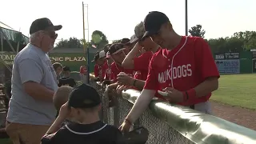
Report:
M 150 11 L 150 13 L 147 14 L 146 18 L 144 19 L 144 28 L 146 30 L 146 33 L 143 35 L 142 38 L 157 34 L 158 31 L 161 29 L 161 26 L 166 22 L 170 22 L 166 14 L 163 14 L 159 11 Z

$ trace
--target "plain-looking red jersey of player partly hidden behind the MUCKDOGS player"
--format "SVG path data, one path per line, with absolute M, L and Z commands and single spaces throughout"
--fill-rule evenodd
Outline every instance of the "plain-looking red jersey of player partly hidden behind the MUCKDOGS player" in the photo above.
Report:
M 158 48 L 160 50 L 160 48 Z M 157 50 L 157 51 L 158 51 Z M 152 51 L 146 51 L 137 58 L 134 58 L 134 78 L 146 81 L 147 74 L 149 72 L 150 60 L 154 53 Z

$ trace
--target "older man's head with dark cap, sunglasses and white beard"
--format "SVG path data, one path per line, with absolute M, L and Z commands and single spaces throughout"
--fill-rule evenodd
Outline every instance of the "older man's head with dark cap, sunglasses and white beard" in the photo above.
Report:
M 58 37 L 55 31 L 61 29 L 61 25 L 54 26 L 49 18 L 38 18 L 30 26 L 30 43 L 44 52 L 49 52 L 54 48 L 55 39 Z

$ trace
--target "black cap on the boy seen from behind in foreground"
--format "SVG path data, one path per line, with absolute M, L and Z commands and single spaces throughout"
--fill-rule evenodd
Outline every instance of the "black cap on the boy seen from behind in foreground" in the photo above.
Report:
M 101 103 L 101 98 L 94 87 L 82 84 L 70 92 L 68 106 L 74 108 L 91 108 Z

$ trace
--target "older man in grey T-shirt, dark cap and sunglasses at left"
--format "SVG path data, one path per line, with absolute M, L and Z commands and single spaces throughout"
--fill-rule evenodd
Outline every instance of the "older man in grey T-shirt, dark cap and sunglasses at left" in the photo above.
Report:
M 15 144 L 39 144 L 54 122 L 57 75 L 47 53 L 60 29 L 48 18 L 36 19 L 30 26 L 30 43 L 14 59 L 6 132 Z

